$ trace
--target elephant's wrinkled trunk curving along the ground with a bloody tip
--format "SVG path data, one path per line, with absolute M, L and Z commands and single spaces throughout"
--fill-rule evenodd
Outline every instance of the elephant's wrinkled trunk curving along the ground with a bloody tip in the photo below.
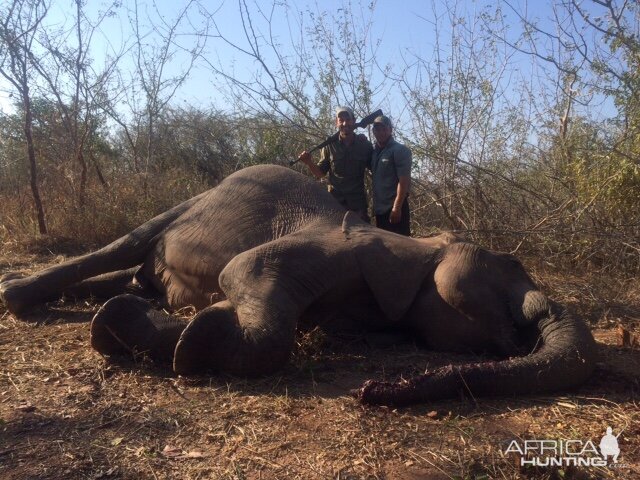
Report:
M 547 312 L 537 321 L 541 345 L 529 355 L 449 365 L 396 383 L 368 380 L 352 393 L 366 404 L 406 406 L 460 393 L 518 395 L 576 387 L 595 368 L 596 343 L 587 325 L 558 304 L 549 302 Z

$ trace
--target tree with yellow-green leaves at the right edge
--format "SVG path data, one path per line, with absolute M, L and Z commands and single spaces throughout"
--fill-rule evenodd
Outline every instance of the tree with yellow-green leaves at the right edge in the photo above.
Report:
M 558 119 L 540 138 L 543 153 L 571 208 L 564 223 L 581 232 L 574 258 L 616 252 L 615 263 L 637 264 L 640 251 L 640 4 L 624 0 L 561 0 L 551 26 L 522 14 L 523 35 L 500 38 L 555 71 Z M 613 100 L 613 102 L 611 102 Z M 593 107 L 613 103 L 602 118 Z M 611 110 L 611 109 L 609 109 Z M 586 247 L 585 247 L 586 246 Z M 606 254 L 605 254 L 606 255 Z M 613 263 L 613 262 L 612 262 Z

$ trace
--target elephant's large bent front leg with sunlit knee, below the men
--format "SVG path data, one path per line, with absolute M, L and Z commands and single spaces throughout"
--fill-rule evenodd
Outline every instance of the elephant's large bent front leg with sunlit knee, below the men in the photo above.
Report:
M 227 300 L 196 315 L 178 342 L 174 370 L 258 376 L 281 368 L 313 302 L 365 287 L 343 238 L 335 223 L 311 225 L 234 257 L 219 277 Z

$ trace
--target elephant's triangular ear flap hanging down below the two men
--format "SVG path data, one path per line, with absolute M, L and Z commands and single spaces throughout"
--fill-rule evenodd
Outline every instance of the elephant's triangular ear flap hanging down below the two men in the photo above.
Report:
M 378 305 L 390 320 L 400 320 L 433 272 L 438 249 L 373 227 L 352 212 L 344 216 L 342 232 Z

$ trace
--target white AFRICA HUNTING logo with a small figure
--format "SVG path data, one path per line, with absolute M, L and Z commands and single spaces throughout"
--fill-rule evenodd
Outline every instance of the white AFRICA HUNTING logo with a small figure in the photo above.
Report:
M 520 456 L 520 466 L 606 467 L 617 466 L 620 448 L 611 427 L 596 444 L 591 440 L 512 440 L 505 454 Z

